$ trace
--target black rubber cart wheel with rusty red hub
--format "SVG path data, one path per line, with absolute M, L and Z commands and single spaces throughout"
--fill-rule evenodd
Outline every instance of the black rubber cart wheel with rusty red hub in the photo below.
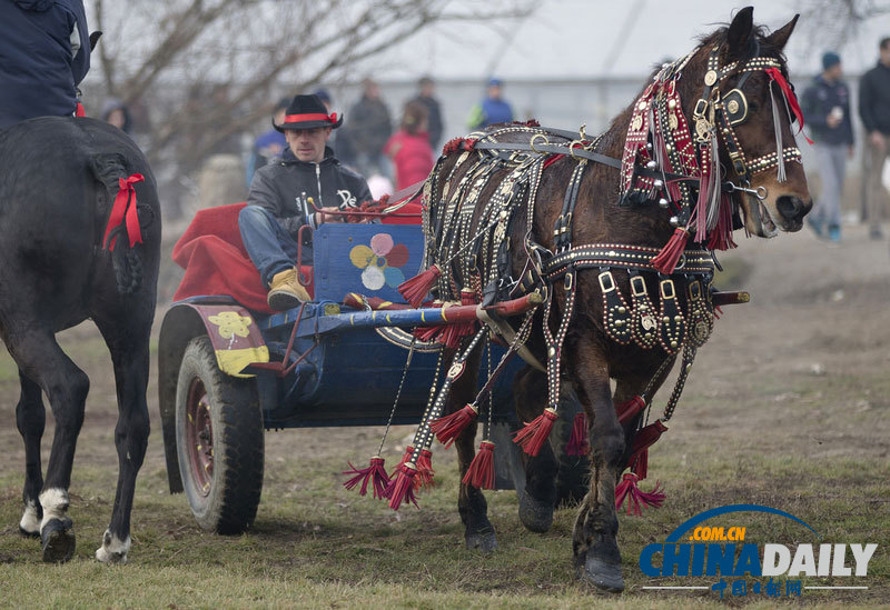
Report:
M 186 348 L 176 388 L 182 487 L 201 529 L 240 533 L 263 490 L 263 414 L 253 379 L 219 370 L 207 336 Z

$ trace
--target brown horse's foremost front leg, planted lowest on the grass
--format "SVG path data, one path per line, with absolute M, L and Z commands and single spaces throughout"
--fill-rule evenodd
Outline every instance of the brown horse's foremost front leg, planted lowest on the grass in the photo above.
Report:
M 575 521 L 572 539 L 581 580 L 609 591 L 622 591 L 615 481 L 623 468 L 624 431 L 619 424 L 605 359 L 580 353 L 576 391 L 591 424 L 591 487 Z

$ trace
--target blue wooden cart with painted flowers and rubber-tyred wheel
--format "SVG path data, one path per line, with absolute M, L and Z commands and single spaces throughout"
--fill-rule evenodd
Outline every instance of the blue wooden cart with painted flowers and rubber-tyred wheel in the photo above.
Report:
M 453 310 L 344 304 L 349 292 L 403 300 L 396 287 L 421 267 L 419 227 L 325 224 L 314 250 L 312 303 L 269 316 L 228 296 L 205 296 L 175 302 L 164 318 L 158 391 L 169 486 L 186 492 L 205 529 L 233 533 L 253 522 L 264 430 L 386 424 L 403 373 L 393 423 L 421 420 L 437 351 L 412 348 L 409 332 L 448 322 Z M 513 412 L 510 382 L 522 366 L 514 360 L 494 391 L 502 427 Z M 500 486 L 522 487 L 518 454 L 505 449 L 501 472 L 514 477 Z

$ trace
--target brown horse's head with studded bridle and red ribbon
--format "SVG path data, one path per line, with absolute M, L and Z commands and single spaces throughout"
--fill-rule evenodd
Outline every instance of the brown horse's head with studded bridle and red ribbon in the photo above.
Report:
M 800 230 L 812 208 L 792 130 L 797 122 L 800 131 L 803 117 L 782 52 L 798 16 L 769 34 L 752 16 L 753 8 L 744 8 L 706 37 L 684 76 L 699 90 L 689 100 L 692 122 L 703 114 L 719 138 L 723 191 L 732 190 L 746 231 L 770 238 L 780 229 Z

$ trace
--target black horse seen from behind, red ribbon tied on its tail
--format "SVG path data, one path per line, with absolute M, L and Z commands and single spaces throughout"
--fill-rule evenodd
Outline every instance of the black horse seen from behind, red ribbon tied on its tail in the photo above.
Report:
M 148 343 L 160 229 L 151 170 L 122 131 L 61 117 L 0 131 L 0 333 L 21 382 L 16 408 L 26 450 L 20 529 L 42 538 L 44 561 L 67 561 L 75 552 L 68 487 L 90 384 L 55 336 L 87 318 L 111 352 L 119 409 L 118 488 L 96 558 L 127 560 L 136 474 L 149 432 Z M 41 392 L 56 418 L 46 480 Z

